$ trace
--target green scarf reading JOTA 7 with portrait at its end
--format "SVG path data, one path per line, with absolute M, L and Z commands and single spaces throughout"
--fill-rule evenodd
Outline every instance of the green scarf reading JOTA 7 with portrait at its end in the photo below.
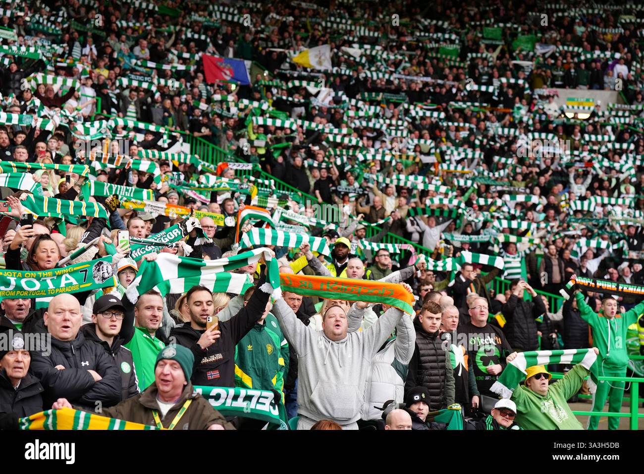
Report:
M 47 298 L 61 293 L 100 290 L 117 284 L 111 257 L 36 272 L 0 270 L 0 299 Z

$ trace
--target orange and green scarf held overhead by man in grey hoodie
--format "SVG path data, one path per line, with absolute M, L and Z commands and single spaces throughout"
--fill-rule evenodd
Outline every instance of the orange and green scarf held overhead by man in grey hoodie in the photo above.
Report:
M 357 280 L 350 278 L 308 277 L 279 273 L 282 291 L 303 296 L 346 301 L 384 303 L 413 315 L 414 299 L 399 283 Z

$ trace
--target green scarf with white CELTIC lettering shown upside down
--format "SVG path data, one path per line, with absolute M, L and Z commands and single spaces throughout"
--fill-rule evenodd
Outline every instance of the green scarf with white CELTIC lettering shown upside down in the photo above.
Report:
M 194 393 L 200 393 L 225 417 L 253 418 L 267 422 L 269 429 L 289 429 L 286 410 L 270 390 L 195 386 Z

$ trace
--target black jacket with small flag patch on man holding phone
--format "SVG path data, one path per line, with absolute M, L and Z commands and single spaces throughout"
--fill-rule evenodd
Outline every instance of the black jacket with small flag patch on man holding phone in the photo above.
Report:
M 219 323 L 222 334 L 207 350 L 197 344 L 204 330 L 194 330 L 189 322 L 175 326 L 170 332 L 170 339 L 175 337 L 177 344 L 193 351 L 194 368 L 190 379 L 193 385 L 235 386 L 235 347 L 266 308 L 270 295 L 259 289 L 264 282 L 265 277 L 262 275 L 246 306 L 228 321 Z

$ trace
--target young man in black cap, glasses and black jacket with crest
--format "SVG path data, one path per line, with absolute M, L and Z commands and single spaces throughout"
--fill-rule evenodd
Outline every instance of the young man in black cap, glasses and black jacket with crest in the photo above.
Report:
M 88 341 L 94 341 L 108 353 L 118 369 L 121 379 L 121 400 L 139 393 L 137 372 L 132 352 L 124 347 L 119 333 L 125 317 L 125 308 L 114 295 L 102 295 L 94 303 L 91 323 L 84 324 L 81 331 Z

